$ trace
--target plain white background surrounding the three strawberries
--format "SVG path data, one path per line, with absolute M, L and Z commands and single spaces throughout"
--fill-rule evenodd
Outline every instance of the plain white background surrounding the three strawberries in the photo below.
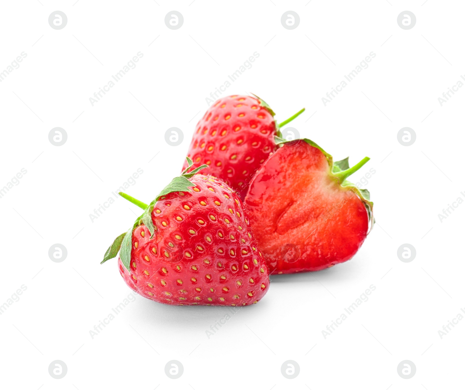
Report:
M 27 286 L 0 316 L 1 387 L 6 389 L 452 389 L 463 386 L 465 321 L 438 330 L 465 306 L 463 215 L 438 214 L 465 191 L 465 88 L 438 97 L 465 73 L 465 7 L 460 1 L 69 1 L 2 2 L 0 71 L 27 57 L 0 83 L 0 187 L 27 174 L 0 199 L 0 304 Z M 423 4 L 424 3 L 424 4 Z M 54 30 L 48 16 L 66 13 Z M 184 17 L 178 30 L 166 13 Z M 281 15 L 299 14 L 287 30 Z M 397 16 L 416 15 L 401 29 Z M 156 39 L 156 40 L 155 40 Z M 138 52 L 143 57 L 98 103 L 89 98 Z M 137 207 L 119 198 L 89 214 L 143 169 L 127 192 L 150 202 L 179 170 L 205 98 L 254 52 L 259 58 L 226 94 L 254 93 L 336 160 L 372 158 L 351 177 L 374 201 L 377 224 L 356 256 L 318 273 L 272 276 L 268 294 L 241 309 L 209 339 L 224 307 L 171 307 L 137 296 L 92 339 L 89 330 L 131 290 L 116 259 L 100 265 Z M 324 106 L 321 98 L 365 56 L 376 57 Z M 68 138 L 48 141 L 52 128 Z M 166 129 L 184 141 L 168 146 Z M 405 147 L 400 128 L 417 139 Z M 155 157 L 154 157 L 155 156 Z M 113 196 L 114 197 L 114 196 Z M 66 260 L 48 249 L 61 243 Z M 416 248 L 399 261 L 404 243 Z M 370 285 L 376 289 L 326 339 L 322 330 Z M 310 352 L 309 352 L 310 351 Z M 66 363 L 64 378 L 48 366 Z M 403 379 L 403 360 L 417 368 Z M 184 374 L 165 375 L 178 360 Z M 286 379 L 293 360 L 299 376 Z M 274 386 L 274 387 L 273 387 Z

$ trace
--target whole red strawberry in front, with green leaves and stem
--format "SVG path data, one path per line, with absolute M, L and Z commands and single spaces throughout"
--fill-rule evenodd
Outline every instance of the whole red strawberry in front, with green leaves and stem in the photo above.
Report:
M 173 181 L 118 236 L 102 261 L 120 250 L 118 267 L 138 294 L 171 305 L 249 305 L 269 287 L 268 268 L 246 210 L 225 182 L 198 174 Z M 121 248 L 121 249 L 120 249 Z

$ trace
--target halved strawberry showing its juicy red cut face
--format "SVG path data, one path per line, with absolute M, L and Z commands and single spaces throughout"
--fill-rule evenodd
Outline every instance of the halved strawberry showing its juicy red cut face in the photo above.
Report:
M 244 201 L 270 271 L 316 271 L 350 260 L 365 240 L 373 203 L 345 180 L 349 168 L 310 140 L 284 143 L 253 178 Z

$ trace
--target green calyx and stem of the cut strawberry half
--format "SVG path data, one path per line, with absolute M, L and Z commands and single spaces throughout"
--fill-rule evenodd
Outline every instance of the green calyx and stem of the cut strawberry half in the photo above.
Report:
M 312 140 L 309 140 L 308 138 L 303 138 L 303 139 L 295 140 L 295 141 L 297 142 L 305 141 L 310 146 L 318 148 L 321 151 L 321 153 L 325 155 L 326 160 L 328 161 L 329 169 L 330 169 L 329 175 L 332 178 L 332 180 L 337 182 L 341 187 L 354 192 L 360 198 L 360 200 L 364 203 L 366 211 L 368 213 L 368 218 L 370 220 L 370 231 L 371 231 L 373 224 L 375 223 L 375 219 L 373 217 L 373 202 L 370 201 L 370 192 L 367 189 L 360 189 L 357 186 L 355 186 L 355 184 L 346 180 L 347 177 L 349 177 L 350 175 L 357 172 L 360 168 L 362 168 L 370 160 L 370 158 L 365 157 L 364 159 L 359 161 L 357 164 L 355 164 L 353 167 L 350 167 L 349 157 L 346 157 L 344 160 L 333 161 L 332 155 L 327 153 L 323 148 L 321 148 L 319 145 L 317 145 Z M 275 137 L 275 142 L 278 145 L 284 145 L 285 143 L 292 142 L 292 141 L 287 141 L 287 140 L 283 140 L 282 138 Z

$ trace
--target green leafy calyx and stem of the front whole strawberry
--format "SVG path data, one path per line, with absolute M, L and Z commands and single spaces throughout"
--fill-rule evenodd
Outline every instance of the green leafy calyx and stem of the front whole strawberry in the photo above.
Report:
M 188 167 L 183 171 L 183 173 L 180 176 L 176 176 L 175 178 L 173 178 L 173 180 L 165 188 L 163 188 L 161 192 L 157 195 L 157 197 L 153 199 L 153 201 L 150 202 L 150 204 L 148 205 L 144 202 L 139 201 L 136 198 L 133 198 L 130 195 L 125 194 L 124 192 L 119 193 L 121 197 L 142 208 L 144 212 L 142 213 L 142 215 L 137 217 L 131 229 L 129 229 L 126 233 L 122 233 L 115 238 L 113 243 L 106 250 L 105 255 L 103 256 L 103 260 L 102 262 L 100 262 L 100 264 L 103 264 L 109 259 L 113 259 L 113 257 L 116 257 L 118 255 L 118 252 L 120 252 L 121 262 L 129 271 L 129 264 L 131 262 L 133 230 L 143 223 L 150 232 L 150 238 L 152 238 L 153 234 L 155 233 L 155 227 L 153 226 L 152 221 L 152 211 L 155 203 L 158 202 L 162 196 L 171 194 L 172 192 L 192 192 L 192 189 L 190 188 L 192 187 L 192 182 L 190 182 L 188 179 L 196 173 L 198 173 L 201 169 L 208 168 L 208 165 L 201 165 L 200 167 L 188 172 L 188 170 L 192 167 L 193 162 L 189 157 L 186 157 L 186 160 L 188 163 Z

